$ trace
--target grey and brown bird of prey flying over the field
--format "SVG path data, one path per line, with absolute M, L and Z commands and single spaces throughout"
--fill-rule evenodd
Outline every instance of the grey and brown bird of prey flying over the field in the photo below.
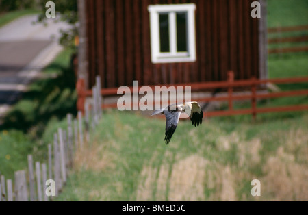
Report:
M 181 113 L 185 112 L 190 117 L 192 125 L 195 127 L 202 124 L 203 111 L 200 105 L 196 101 L 185 102 L 181 105 L 169 105 L 161 110 L 155 110 L 151 116 L 157 114 L 165 114 L 166 116 L 166 132 L 165 132 L 165 142 L 168 144 L 172 138 L 172 135 L 177 129 L 177 123 L 179 123 L 179 118 Z

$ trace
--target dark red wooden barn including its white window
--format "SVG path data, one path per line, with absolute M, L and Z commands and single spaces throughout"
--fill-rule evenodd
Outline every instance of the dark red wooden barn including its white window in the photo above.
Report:
M 267 77 L 266 8 L 253 0 L 87 0 L 80 5 L 88 88 Z M 81 53 L 80 53 L 81 54 Z M 84 59 L 83 59 L 84 58 Z

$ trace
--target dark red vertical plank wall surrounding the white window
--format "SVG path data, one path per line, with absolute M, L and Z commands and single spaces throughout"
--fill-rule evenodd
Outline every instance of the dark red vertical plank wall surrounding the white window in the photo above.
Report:
M 89 87 L 181 84 L 259 77 L 258 19 L 253 0 L 88 0 Z M 196 4 L 196 52 L 192 63 L 152 64 L 148 5 Z M 264 62 L 265 63 L 265 62 Z

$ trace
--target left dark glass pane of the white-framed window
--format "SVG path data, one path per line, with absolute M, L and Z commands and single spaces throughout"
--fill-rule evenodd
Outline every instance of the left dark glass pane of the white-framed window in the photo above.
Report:
M 160 52 L 170 52 L 169 14 L 159 14 Z

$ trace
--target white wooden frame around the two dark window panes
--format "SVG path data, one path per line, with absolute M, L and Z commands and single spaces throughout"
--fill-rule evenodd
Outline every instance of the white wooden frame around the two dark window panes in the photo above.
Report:
M 188 4 L 170 4 L 170 5 L 149 5 L 150 29 L 151 29 L 151 60 L 157 63 L 172 62 L 195 62 L 196 61 L 196 28 L 195 28 L 195 10 L 194 3 Z M 176 13 L 187 12 L 187 52 L 177 51 L 177 25 Z M 160 52 L 160 34 L 159 34 L 159 14 L 169 14 L 169 53 Z

